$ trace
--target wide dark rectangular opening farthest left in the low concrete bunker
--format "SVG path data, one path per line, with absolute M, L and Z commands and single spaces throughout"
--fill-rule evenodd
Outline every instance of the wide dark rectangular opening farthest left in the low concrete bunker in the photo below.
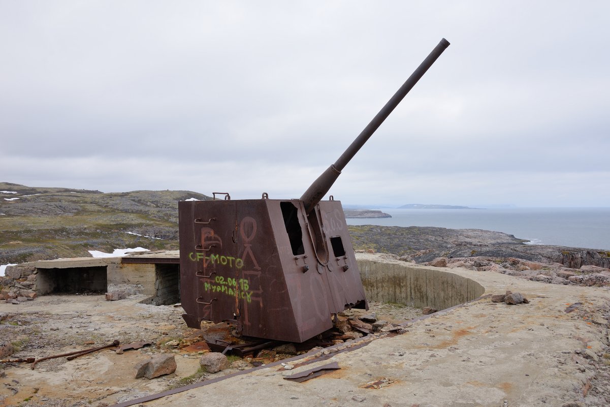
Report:
M 107 290 L 107 267 L 38 268 L 38 295 L 104 294 Z

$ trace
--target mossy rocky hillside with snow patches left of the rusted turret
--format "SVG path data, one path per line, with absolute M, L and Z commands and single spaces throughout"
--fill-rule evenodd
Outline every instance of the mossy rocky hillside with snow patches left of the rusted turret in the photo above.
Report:
M 190 191 L 102 193 L 0 182 L 0 264 L 90 256 L 87 250 L 178 248 L 178 201 Z

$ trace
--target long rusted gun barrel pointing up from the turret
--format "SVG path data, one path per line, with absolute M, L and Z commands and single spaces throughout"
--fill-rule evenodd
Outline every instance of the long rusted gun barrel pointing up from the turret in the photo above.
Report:
M 409 90 L 411 90 L 411 88 L 414 87 L 415 84 L 417 84 L 417 81 L 419 81 L 423 74 L 428 71 L 428 68 L 432 66 L 432 63 L 434 63 L 438 59 L 440 54 L 442 54 L 448 46 L 449 41 L 445 40 L 445 38 L 440 40 L 439 45 L 432 49 L 432 52 L 430 52 L 428 57 L 426 57 L 426 59 L 423 60 L 422 63 L 420 63 L 420 66 L 417 67 L 417 69 L 414 71 L 414 73 L 411 74 L 411 76 L 409 76 L 409 79 L 407 79 L 406 82 L 404 82 L 404 84 L 400 87 L 400 89 L 397 90 L 394 96 L 392 96 L 392 98 L 387 101 L 386 106 L 382 107 L 382 109 L 379 110 L 379 113 L 377 113 L 373 120 L 368 123 L 368 126 L 365 127 L 364 130 L 362 130 L 360 135 L 356 137 L 356 140 L 351 143 L 351 145 L 345 150 L 345 152 L 341 154 L 335 164 L 332 164 L 330 167 L 328 167 L 326 171 L 324 171 L 322 175 L 320 175 L 314 181 L 314 183 L 310 185 L 310 187 L 305 191 L 303 196 L 301 196 L 301 201 L 303 201 L 305 205 L 305 212 L 307 214 L 309 214 L 309 212 L 314 209 L 316 204 L 320 202 L 324 195 L 326 195 L 326 192 L 331 189 L 332 184 L 337 181 L 337 178 L 339 178 L 341 170 L 343 170 L 345 165 L 350 162 L 350 160 L 356 155 L 358 150 L 362 148 L 364 143 L 366 143 L 367 140 L 371 137 L 371 135 L 373 135 L 375 130 L 379 128 L 379 126 L 381 126 L 381 123 L 386 120 L 390 113 L 392 113 L 392 110 L 394 110 L 394 108 L 398 106 L 398 104 L 403 100 L 404 96 L 406 96 L 407 93 L 409 93 Z

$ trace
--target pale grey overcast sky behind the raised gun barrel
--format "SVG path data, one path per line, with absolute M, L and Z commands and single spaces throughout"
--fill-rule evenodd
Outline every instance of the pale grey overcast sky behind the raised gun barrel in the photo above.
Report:
M 610 206 L 608 1 L 0 0 L 0 181 Z

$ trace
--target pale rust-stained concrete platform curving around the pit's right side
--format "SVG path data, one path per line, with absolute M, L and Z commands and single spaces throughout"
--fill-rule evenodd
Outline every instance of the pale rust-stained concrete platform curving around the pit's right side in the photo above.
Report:
M 407 266 L 375 254 L 361 254 L 359 261 L 375 267 Z M 134 403 L 146 407 L 608 405 L 610 287 L 559 286 L 460 268 L 417 268 L 472 279 L 483 287 L 483 295 L 520 292 L 529 304 L 481 298 L 412 322 L 404 334 L 331 353 L 326 360 L 303 358 L 293 363 L 304 366 L 293 370 L 276 364 Z M 566 312 L 570 306 L 573 311 Z M 284 380 L 286 375 L 329 362 L 338 362 L 340 369 L 304 383 Z M 379 380 L 390 384 L 367 388 Z

